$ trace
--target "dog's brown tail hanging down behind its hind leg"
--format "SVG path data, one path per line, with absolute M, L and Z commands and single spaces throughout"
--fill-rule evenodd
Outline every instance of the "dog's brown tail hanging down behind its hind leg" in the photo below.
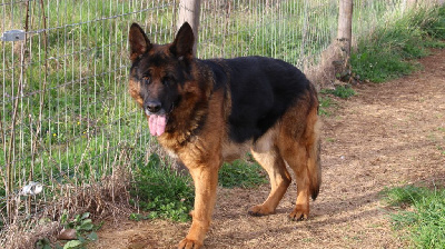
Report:
M 320 139 L 319 139 L 319 133 L 322 129 L 322 121 L 318 119 L 317 116 L 316 121 L 313 124 L 314 128 L 312 130 L 312 139 L 309 139 L 312 142 L 309 142 L 307 152 L 309 153 L 308 161 L 307 161 L 307 168 L 308 168 L 308 175 L 309 175 L 309 181 L 310 181 L 310 195 L 313 200 L 315 200 L 318 196 L 319 188 L 322 185 L 322 161 L 320 161 Z

